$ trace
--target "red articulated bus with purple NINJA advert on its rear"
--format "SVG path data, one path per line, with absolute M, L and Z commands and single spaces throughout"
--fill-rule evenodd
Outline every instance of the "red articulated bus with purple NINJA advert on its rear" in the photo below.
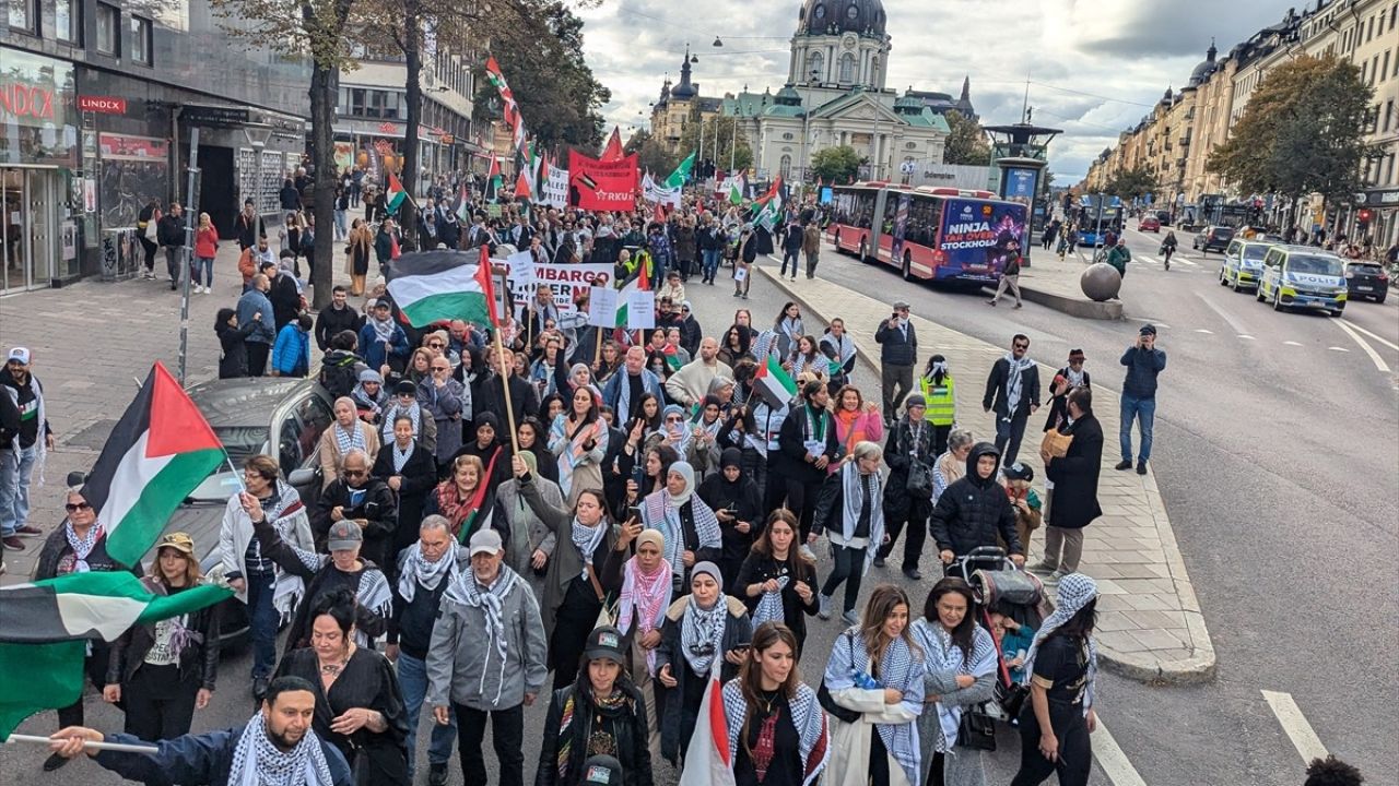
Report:
M 1030 256 L 1027 208 L 983 190 L 862 182 L 835 186 L 831 242 L 908 281 L 996 283 L 1004 256 Z

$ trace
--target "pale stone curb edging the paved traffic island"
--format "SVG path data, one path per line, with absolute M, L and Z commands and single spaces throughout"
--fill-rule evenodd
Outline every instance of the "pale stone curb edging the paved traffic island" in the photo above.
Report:
M 782 277 L 775 276 L 768 267 L 754 266 L 754 270 L 761 271 L 764 277 L 768 278 L 769 284 L 776 285 L 779 290 L 786 292 L 792 301 L 802 305 L 804 310 L 820 315 L 823 309 L 816 308 L 810 298 L 802 294 L 800 290 L 792 288 L 789 281 Z M 1030 290 L 1021 287 L 1021 291 L 1028 296 Z M 1060 301 L 1067 301 L 1069 298 L 1059 298 Z M 1116 310 L 1121 313 L 1122 303 L 1091 303 L 1091 305 L 1115 305 Z M 1060 309 L 1063 310 L 1063 309 Z M 1093 317 L 1090 317 L 1093 319 Z M 1108 319 L 1108 317 L 1095 317 Z M 1118 319 L 1118 317 L 1112 317 Z M 876 376 L 879 376 L 879 362 L 865 350 L 858 347 L 856 357 L 865 364 Z M 1147 496 L 1151 498 L 1151 513 L 1153 519 L 1157 522 L 1157 529 L 1161 529 L 1161 519 L 1157 513 L 1164 515 L 1165 509 L 1161 505 L 1160 492 L 1156 488 L 1156 477 L 1151 477 L 1151 487 L 1147 488 Z M 1161 537 L 1161 545 L 1165 550 L 1165 565 L 1171 572 L 1171 579 L 1175 582 L 1177 596 L 1181 599 L 1181 606 L 1185 614 L 1185 625 L 1191 634 L 1191 642 L 1193 645 L 1193 655 L 1191 657 L 1182 657 L 1177 660 L 1158 660 L 1151 657 L 1144 657 L 1136 653 L 1118 652 L 1112 648 L 1098 646 L 1098 655 L 1102 660 L 1104 669 L 1118 674 L 1121 677 L 1128 677 L 1147 684 L 1171 684 L 1171 685 L 1195 685 L 1202 683 L 1210 683 L 1216 677 L 1217 660 L 1214 655 L 1214 643 L 1210 639 L 1209 629 L 1205 625 L 1205 615 L 1200 613 L 1200 603 L 1195 594 L 1195 585 L 1191 583 L 1188 573 L 1185 572 L 1185 561 L 1181 557 L 1179 544 L 1175 540 L 1175 533 L 1170 527 L 1170 520 L 1165 523 L 1165 534 L 1170 537 Z M 1045 599 L 1045 606 L 1052 608 L 1052 599 Z

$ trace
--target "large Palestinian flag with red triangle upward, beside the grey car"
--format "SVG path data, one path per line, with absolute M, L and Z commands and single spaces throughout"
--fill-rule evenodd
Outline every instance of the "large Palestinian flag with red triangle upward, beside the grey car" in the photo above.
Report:
M 159 362 L 97 457 L 83 496 L 106 531 L 106 552 L 136 565 L 175 509 L 224 462 L 224 445 Z

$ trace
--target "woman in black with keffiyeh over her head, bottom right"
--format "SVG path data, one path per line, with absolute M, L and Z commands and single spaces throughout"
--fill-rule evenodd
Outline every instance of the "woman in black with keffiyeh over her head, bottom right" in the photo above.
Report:
M 1030 698 L 1020 710 L 1020 771 L 1011 786 L 1035 786 L 1051 773 L 1062 786 L 1086 786 L 1098 727 L 1094 692 L 1098 646 L 1093 639 L 1098 585 L 1083 573 L 1059 580 L 1051 614 L 1025 656 Z

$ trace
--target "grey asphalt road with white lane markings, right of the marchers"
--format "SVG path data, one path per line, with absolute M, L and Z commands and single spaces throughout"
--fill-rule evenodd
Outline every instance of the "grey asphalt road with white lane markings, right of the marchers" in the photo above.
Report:
M 1153 463 L 1219 652 L 1219 680 L 1154 688 L 1109 678 L 1104 713 L 1116 738 L 1153 785 L 1297 782 L 1301 757 L 1260 694 L 1280 691 L 1332 752 L 1367 779 L 1396 783 L 1399 743 L 1377 730 L 1399 727 L 1399 687 L 1332 673 L 1392 674 L 1399 568 L 1365 557 L 1392 555 L 1399 541 L 1391 502 L 1399 491 L 1399 306 L 1356 302 L 1339 320 L 1276 313 L 1220 287 L 1220 256 L 1191 252 L 1179 236 L 1186 250 L 1165 271 L 1158 236 L 1128 231 L 1135 262 L 1123 322 L 1034 303 L 992 309 L 985 298 L 908 284 L 832 253 L 820 270 L 986 341 L 1009 345 L 1024 331 L 1046 362 L 1081 347 L 1095 382 L 1115 389 L 1123 348 L 1139 324 L 1156 323 L 1170 365 Z

